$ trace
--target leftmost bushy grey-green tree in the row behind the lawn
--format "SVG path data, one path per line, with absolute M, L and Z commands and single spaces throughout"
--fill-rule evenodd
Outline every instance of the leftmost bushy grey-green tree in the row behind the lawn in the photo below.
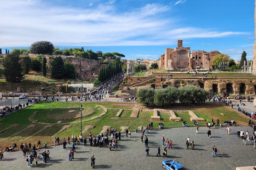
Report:
M 153 88 L 140 88 L 137 92 L 138 103 L 143 105 L 153 105 L 154 104 L 155 90 Z

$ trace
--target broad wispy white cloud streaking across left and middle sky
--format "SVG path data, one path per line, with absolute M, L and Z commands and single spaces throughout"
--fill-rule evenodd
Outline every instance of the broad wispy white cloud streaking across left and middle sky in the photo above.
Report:
M 174 16 L 161 17 L 172 10 L 170 6 L 153 3 L 116 12 L 115 2 L 78 8 L 50 6 L 40 0 L 5 1 L 0 6 L 0 46 L 25 47 L 39 40 L 59 46 L 154 46 L 174 44 L 179 38 L 249 35 L 196 27 L 175 29 L 179 23 Z

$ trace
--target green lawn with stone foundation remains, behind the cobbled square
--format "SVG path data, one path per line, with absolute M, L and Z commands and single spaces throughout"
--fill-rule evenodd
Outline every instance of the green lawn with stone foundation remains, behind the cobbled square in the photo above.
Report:
M 93 125 L 95 128 L 88 130 L 83 134 L 84 137 L 89 137 L 89 132 L 91 131 L 93 135 L 97 135 L 101 132 L 103 126 L 112 126 L 112 128 L 116 128 L 117 130 L 121 130 L 121 126 L 129 126 L 130 130 L 134 130 L 135 128 L 138 128 L 138 126 L 146 126 L 151 121 L 151 116 L 154 114 L 152 111 L 140 111 L 138 118 L 131 118 L 130 115 L 132 111 L 124 110 L 121 114 L 121 117 L 115 117 L 118 109 L 111 109 L 111 108 L 129 108 L 131 109 L 135 103 L 121 103 L 119 102 L 118 105 L 115 105 L 117 103 L 111 103 L 111 102 L 84 102 L 83 103 L 83 120 L 86 120 L 88 118 L 94 117 L 96 115 L 99 115 L 103 112 L 103 109 L 98 107 L 95 108 L 96 105 L 102 105 L 108 108 L 108 112 L 103 115 L 102 117 L 95 118 L 91 121 L 85 121 L 82 122 L 82 130 L 84 130 L 84 127 L 86 125 Z M 131 106 L 132 105 L 132 106 Z M 79 118 L 76 119 L 69 119 L 70 115 L 79 115 L 80 109 L 79 109 L 80 103 L 79 102 L 42 102 L 39 104 L 35 104 L 32 106 L 29 106 L 27 108 L 22 109 L 21 111 L 12 113 L 11 115 L 5 116 L 0 119 L 0 123 L 3 123 L 3 125 L 0 125 L 0 131 L 3 129 L 8 128 L 11 124 L 20 124 L 19 126 L 13 127 L 9 130 L 4 131 L 0 134 L 0 146 L 8 146 L 12 144 L 12 142 L 16 142 L 17 145 L 20 145 L 21 142 L 31 142 L 32 144 L 36 143 L 38 140 L 41 140 L 42 143 L 46 142 L 52 142 L 53 138 L 52 135 L 57 133 L 59 130 L 63 128 L 65 125 L 71 125 L 70 128 L 60 132 L 57 136 L 62 138 L 67 138 L 68 135 L 72 135 L 73 133 L 78 135 L 81 131 L 81 124 L 79 122 Z M 215 121 L 217 121 L 217 118 L 219 118 L 220 123 L 223 123 L 224 121 L 230 121 L 235 120 L 238 125 L 246 125 L 248 118 L 241 113 L 236 112 L 234 109 L 231 109 L 225 105 L 222 104 L 198 104 L 196 106 L 182 106 L 182 105 L 173 105 L 170 107 L 173 110 L 191 110 L 193 111 L 198 117 L 202 117 L 205 119 L 205 121 L 200 122 L 200 125 L 204 125 L 205 122 L 211 121 L 213 118 Z M 71 109 L 77 111 L 75 113 L 69 113 Z M 12 137 L 8 140 L 5 140 L 5 138 L 9 137 L 10 135 L 17 133 L 21 131 L 22 129 L 25 129 L 28 125 L 32 124 L 31 121 L 28 120 L 28 118 L 33 115 L 34 112 L 38 112 L 34 116 L 34 120 L 37 120 L 38 122 L 44 122 L 44 123 L 54 123 L 54 125 L 51 128 L 47 128 L 44 131 L 38 133 L 35 135 L 35 137 L 29 139 L 28 141 L 24 141 L 27 137 L 30 137 L 30 135 L 33 135 L 34 133 L 38 132 L 46 124 L 39 124 L 36 123 L 36 126 L 34 128 L 30 128 L 26 131 L 23 131 L 19 134 L 17 134 L 15 137 Z M 225 116 L 222 116 L 220 113 L 225 114 Z M 193 122 L 190 121 L 190 116 L 188 113 L 175 113 L 177 116 L 181 118 L 182 121 L 187 121 L 188 125 L 193 125 Z M 170 113 L 169 112 L 160 112 L 158 113 L 159 116 L 161 116 L 161 122 L 164 123 L 165 127 L 171 127 L 171 126 L 181 126 L 181 122 L 175 122 L 170 121 Z M 61 123 L 66 124 L 58 124 L 58 121 L 62 121 Z M 77 121 L 77 122 L 76 122 Z M 76 123 L 75 123 L 76 122 Z M 156 127 L 159 123 L 159 121 L 153 121 L 154 126 Z

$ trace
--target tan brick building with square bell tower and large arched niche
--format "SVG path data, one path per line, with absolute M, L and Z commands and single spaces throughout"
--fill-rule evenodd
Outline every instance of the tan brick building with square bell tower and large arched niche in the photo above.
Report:
M 159 69 L 165 70 L 212 70 L 212 60 L 221 54 L 217 50 L 205 52 L 204 50 L 190 51 L 190 47 L 183 47 L 183 40 L 179 39 L 177 47 L 167 48 L 158 59 Z

